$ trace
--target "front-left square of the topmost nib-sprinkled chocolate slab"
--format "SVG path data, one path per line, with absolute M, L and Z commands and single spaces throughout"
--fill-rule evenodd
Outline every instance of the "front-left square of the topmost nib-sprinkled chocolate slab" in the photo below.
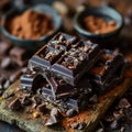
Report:
M 53 48 L 43 46 L 33 57 L 29 61 L 29 68 L 40 68 L 41 72 L 51 69 L 51 66 L 62 56 L 64 48 Z

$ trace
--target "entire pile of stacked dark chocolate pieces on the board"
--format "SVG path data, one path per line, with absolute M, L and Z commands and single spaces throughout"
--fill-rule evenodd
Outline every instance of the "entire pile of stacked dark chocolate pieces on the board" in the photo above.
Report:
M 92 95 L 121 80 L 123 66 L 120 53 L 58 33 L 29 61 L 21 90 L 37 94 L 62 111 L 79 111 Z

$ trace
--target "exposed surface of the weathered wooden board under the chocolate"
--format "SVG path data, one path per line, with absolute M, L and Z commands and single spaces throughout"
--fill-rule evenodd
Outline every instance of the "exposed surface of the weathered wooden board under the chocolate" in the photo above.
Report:
M 74 132 L 75 130 L 70 129 L 68 124 L 74 121 L 85 121 L 87 123 L 86 131 L 90 132 L 97 125 L 98 121 L 105 114 L 111 103 L 117 98 L 122 96 L 132 85 L 132 78 L 130 75 L 132 75 L 132 72 L 128 72 L 124 79 L 122 80 L 122 84 L 114 87 L 105 96 L 100 97 L 99 103 L 95 107 L 95 109 L 81 111 L 78 116 L 74 118 L 65 118 L 63 119 L 61 124 L 57 124 L 55 127 L 44 127 L 45 117 L 32 119 L 22 111 L 14 112 L 9 110 L 6 106 L 6 101 L 2 98 L 0 99 L 0 120 L 6 121 L 10 124 L 16 124 L 19 128 L 28 132 Z M 14 92 L 15 88 L 19 87 L 19 84 L 20 81 L 18 80 L 8 89 L 7 92 Z

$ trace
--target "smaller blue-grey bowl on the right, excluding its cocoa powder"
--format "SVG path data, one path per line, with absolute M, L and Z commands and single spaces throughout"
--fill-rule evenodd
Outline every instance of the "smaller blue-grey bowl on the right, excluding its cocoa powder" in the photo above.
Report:
M 105 34 L 90 33 L 82 28 L 82 20 L 88 15 L 99 16 L 105 19 L 106 21 L 114 20 L 118 28 L 113 32 Z M 90 40 L 99 44 L 109 43 L 117 38 L 121 29 L 123 28 L 123 18 L 118 11 L 109 7 L 88 8 L 75 15 L 74 26 L 78 35 L 84 40 Z

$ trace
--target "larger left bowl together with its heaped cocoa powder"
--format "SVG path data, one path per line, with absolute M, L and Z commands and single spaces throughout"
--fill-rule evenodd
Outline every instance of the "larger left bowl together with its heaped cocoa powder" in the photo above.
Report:
M 50 6 L 21 7 L 2 16 L 1 31 L 16 46 L 36 51 L 62 26 L 62 19 Z

